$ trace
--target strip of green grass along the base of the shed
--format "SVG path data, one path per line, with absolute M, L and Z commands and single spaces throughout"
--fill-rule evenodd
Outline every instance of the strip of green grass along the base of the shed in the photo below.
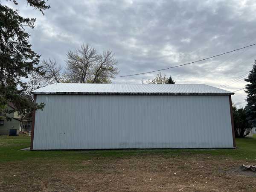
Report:
M 88 151 L 19 151 L 30 146 L 28 136 L 0 136 L 0 162 L 29 160 L 58 160 L 72 163 L 75 160 L 90 160 L 93 157 L 129 157 L 161 154 L 170 156 L 189 156 L 209 154 L 219 157 L 231 157 L 237 160 L 256 160 L 256 134 L 253 138 L 236 139 L 236 149 L 131 149 L 131 150 L 88 150 Z

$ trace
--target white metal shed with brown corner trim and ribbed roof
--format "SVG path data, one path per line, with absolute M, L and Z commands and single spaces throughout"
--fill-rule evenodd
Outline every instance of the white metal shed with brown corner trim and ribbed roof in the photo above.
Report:
M 204 84 L 51 84 L 31 149 L 233 148 L 231 93 Z

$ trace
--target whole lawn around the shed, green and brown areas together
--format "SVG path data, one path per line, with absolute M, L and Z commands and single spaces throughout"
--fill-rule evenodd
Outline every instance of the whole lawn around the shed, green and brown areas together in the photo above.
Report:
M 256 191 L 256 135 L 236 149 L 19 151 L 28 136 L 0 136 L 0 192 Z M 235 172 L 234 172 L 235 171 Z

